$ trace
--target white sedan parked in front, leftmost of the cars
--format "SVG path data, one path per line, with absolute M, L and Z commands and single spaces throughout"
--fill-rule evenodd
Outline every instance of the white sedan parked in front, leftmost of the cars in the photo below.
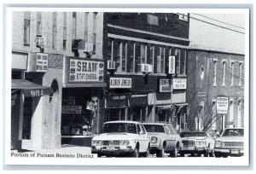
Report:
M 102 134 L 91 140 L 91 153 L 106 156 L 147 157 L 149 136 L 135 121 L 110 121 L 103 124 Z

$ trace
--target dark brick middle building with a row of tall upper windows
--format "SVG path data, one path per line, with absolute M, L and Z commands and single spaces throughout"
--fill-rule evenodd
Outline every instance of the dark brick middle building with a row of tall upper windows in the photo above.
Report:
M 103 40 L 108 84 L 104 121 L 164 121 L 185 130 L 187 15 L 105 13 Z

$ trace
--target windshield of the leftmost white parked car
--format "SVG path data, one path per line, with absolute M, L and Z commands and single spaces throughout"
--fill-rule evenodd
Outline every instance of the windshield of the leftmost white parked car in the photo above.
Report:
M 108 123 L 103 125 L 102 133 L 132 133 L 137 134 L 136 124 L 133 123 Z

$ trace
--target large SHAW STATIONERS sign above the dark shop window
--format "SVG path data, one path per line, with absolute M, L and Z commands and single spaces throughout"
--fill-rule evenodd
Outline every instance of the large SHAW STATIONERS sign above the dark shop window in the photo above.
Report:
M 88 61 L 70 59 L 70 82 L 103 82 L 104 63 L 102 61 Z

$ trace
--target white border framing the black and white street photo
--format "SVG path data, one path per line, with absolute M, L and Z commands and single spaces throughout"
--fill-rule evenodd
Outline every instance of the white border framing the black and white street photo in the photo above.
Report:
M 18 2 L 19 3 L 19 2 Z M 12 40 L 12 30 L 11 30 L 11 22 L 12 10 L 41 10 L 41 11 L 99 11 L 99 12 L 160 12 L 160 13 L 175 13 L 175 12 L 183 12 L 183 13 L 242 13 L 246 14 L 245 23 L 246 23 L 246 55 L 245 55 L 245 95 L 244 95 L 244 127 L 245 127 L 245 147 L 248 147 L 248 117 L 249 117 L 249 103 L 248 103 L 248 84 L 249 84 L 249 11 L 248 9 L 105 9 L 105 8 L 8 8 L 7 9 L 7 16 L 5 16 L 5 20 L 7 22 L 7 29 L 6 29 L 6 36 L 7 36 L 7 44 L 6 44 L 6 55 L 5 60 L 7 62 L 6 69 L 9 70 L 6 72 L 6 78 L 9 81 L 5 82 L 5 88 L 7 94 L 10 94 L 11 89 L 11 64 L 10 64 L 10 57 L 11 57 L 11 40 Z M 10 103 L 10 96 L 7 95 L 5 102 Z M 245 156 L 241 158 L 227 158 L 227 159 L 217 159 L 217 158 L 144 158 L 144 159 L 119 159 L 119 158 L 99 158 L 99 159 L 54 159 L 54 158 L 11 158 L 9 149 L 10 149 L 10 105 L 6 105 L 7 111 L 5 113 L 5 165 L 219 165 L 219 166 L 241 166 L 241 165 L 248 165 L 248 148 L 245 148 Z M 251 115 L 253 117 L 253 115 Z M 196 160 L 195 160 L 196 159 Z

